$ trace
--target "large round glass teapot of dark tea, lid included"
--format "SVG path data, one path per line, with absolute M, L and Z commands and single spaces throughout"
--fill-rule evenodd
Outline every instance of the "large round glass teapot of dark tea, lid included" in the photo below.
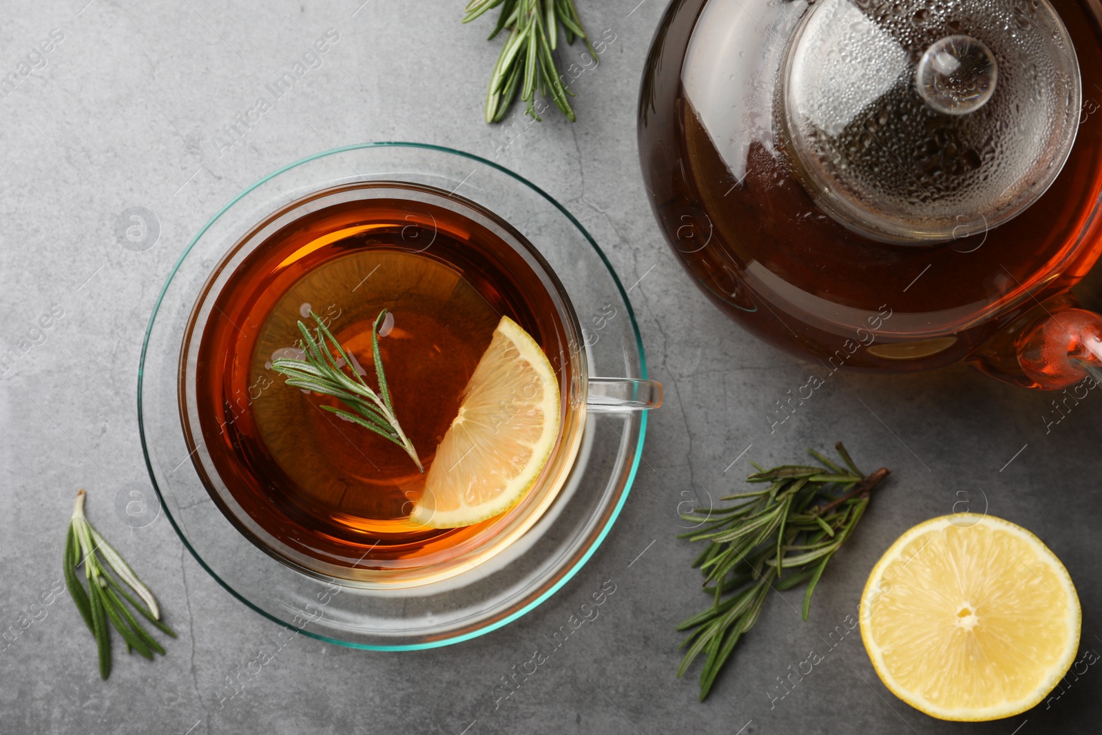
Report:
M 644 181 L 700 288 L 828 369 L 1102 380 L 1102 0 L 673 0 Z

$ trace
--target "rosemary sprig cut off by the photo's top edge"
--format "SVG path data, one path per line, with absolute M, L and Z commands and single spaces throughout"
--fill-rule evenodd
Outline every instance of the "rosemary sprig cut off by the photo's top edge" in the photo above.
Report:
M 573 44 L 575 36 L 582 39 L 593 61 L 597 61 L 597 52 L 585 35 L 574 0 L 471 0 L 463 22 L 469 23 L 498 6 L 501 6 L 501 13 L 487 40 L 504 30 L 509 31 L 509 37 L 489 77 L 486 122 L 500 121 L 518 91 L 520 99 L 528 105 L 529 117 L 539 120 L 534 107 L 537 87 L 541 95 L 550 93 L 554 104 L 573 122 L 574 110 L 566 96 L 573 97 L 574 94 L 563 86 L 551 56 L 559 44 L 559 26 L 566 35 L 568 44 Z

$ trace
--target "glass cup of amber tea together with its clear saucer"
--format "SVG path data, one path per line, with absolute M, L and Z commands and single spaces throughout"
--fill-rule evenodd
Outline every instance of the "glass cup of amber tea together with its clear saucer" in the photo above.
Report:
M 558 437 L 504 512 L 413 522 L 425 475 L 410 457 L 276 369 L 320 322 L 341 367 L 374 381 L 383 309 L 389 392 L 430 471 L 503 316 L 550 361 Z M 196 559 L 267 616 L 367 648 L 452 642 L 550 595 L 615 520 L 661 403 L 576 220 L 491 162 L 415 144 L 312 156 L 228 205 L 177 263 L 142 360 L 150 474 Z

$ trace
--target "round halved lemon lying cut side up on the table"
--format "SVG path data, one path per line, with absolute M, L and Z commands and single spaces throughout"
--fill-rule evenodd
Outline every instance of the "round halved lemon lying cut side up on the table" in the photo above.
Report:
M 1081 623 L 1056 554 L 1020 526 L 977 514 L 904 533 L 861 598 L 876 673 L 940 720 L 997 720 L 1038 704 L 1074 660 Z

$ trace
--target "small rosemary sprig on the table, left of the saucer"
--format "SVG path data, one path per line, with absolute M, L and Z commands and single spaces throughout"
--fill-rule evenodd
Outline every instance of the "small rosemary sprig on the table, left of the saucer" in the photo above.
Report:
M 78 490 L 65 538 L 65 559 L 62 568 L 65 586 L 68 587 L 69 595 L 76 603 L 76 608 L 80 610 L 80 617 L 84 618 L 88 630 L 96 638 L 96 647 L 99 649 L 99 675 L 107 679 L 111 673 L 111 640 L 108 624 L 122 636 L 128 652 L 134 650 L 148 659 L 152 659 L 154 652 L 164 656 L 164 649 L 138 623 L 123 601 L 130 603 L 131 607 L 164 634 L 173 638 L 176 634 L 161 623 L 161 610 L 153 593 L 142 584 L 119 552 L 111 548 L 111 544 L 105 541 L 85 518 L 84 497 L 85 491 Z M 104 565 L 105 562 L 107 566 Z M 84 576 L 88 582 L 87 592 L 76 576 L 76 570 L 80 564 L 84 564 Z M 141 603 L 131 597 L 107 572 L 108 566 L 133 591 Z

